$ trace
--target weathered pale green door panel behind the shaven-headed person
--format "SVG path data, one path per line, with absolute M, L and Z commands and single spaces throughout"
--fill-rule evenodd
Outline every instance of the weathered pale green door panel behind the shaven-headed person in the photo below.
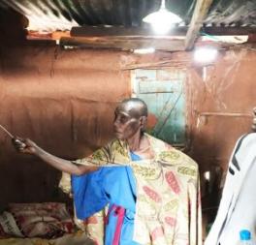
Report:
M 135 70 L 134 92 L 148 106 L 155 124 L 148 133 L 173 145 L 185 144 L 185 94 L 182 71 Z

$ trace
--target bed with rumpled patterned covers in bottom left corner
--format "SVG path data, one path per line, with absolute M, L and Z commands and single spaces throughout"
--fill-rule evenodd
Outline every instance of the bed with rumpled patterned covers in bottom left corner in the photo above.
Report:
M 93 245 L 65 203 L 10 203 L 0 214 L 0 245 Z

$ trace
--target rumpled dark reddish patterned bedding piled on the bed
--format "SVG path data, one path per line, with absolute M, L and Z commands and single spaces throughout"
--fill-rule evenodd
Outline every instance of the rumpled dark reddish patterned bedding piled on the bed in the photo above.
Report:
M 74 231 L 64 203 L 10 203 L 0 215 L 0 236 L 56 238 Z

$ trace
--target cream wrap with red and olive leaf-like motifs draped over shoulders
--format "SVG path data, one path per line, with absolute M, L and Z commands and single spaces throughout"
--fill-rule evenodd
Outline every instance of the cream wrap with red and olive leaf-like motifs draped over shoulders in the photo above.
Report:
M 113 140 L 74 163 L 87 166 L 129 165 L 137 181 L 134 240 L 143 245 L 201 245 L 201 202 L 197 164 L 162 140 L 145 135 L 154 159 L 133 162 L 128 145 Z M 66 187 L 63 184 L 62 186 Z M 67 189 L 67 188 L 66 188 Z M 103 214 L 106 212 L 103 212 Z M 102 213 L 101 213 L 102 214 Z M 93 216 L 87 231 L 104 244 L 103 217 Z

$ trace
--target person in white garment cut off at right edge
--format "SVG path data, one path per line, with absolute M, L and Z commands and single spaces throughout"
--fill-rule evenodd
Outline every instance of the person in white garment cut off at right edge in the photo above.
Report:
M 252 129 L 256 132 L 256 107 Z M 240 230 L 250 230 L 252 240 L 256 241 L 255 176 L 256 133 L 250 133 L 236 143 L 217 216 L 205 245 L 238 245 Z

